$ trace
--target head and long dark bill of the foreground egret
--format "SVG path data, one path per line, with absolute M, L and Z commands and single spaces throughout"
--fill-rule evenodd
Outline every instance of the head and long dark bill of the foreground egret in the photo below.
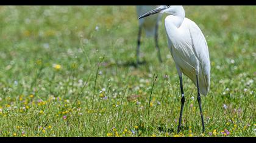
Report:
M 141 15 L 138 19 L 154 15 L 155 13 L 168 13 L 169 15 L 185 17 L 185 11 L 182 5 L 160 5 L 154 10 L 151 10 L 150 12 Z

